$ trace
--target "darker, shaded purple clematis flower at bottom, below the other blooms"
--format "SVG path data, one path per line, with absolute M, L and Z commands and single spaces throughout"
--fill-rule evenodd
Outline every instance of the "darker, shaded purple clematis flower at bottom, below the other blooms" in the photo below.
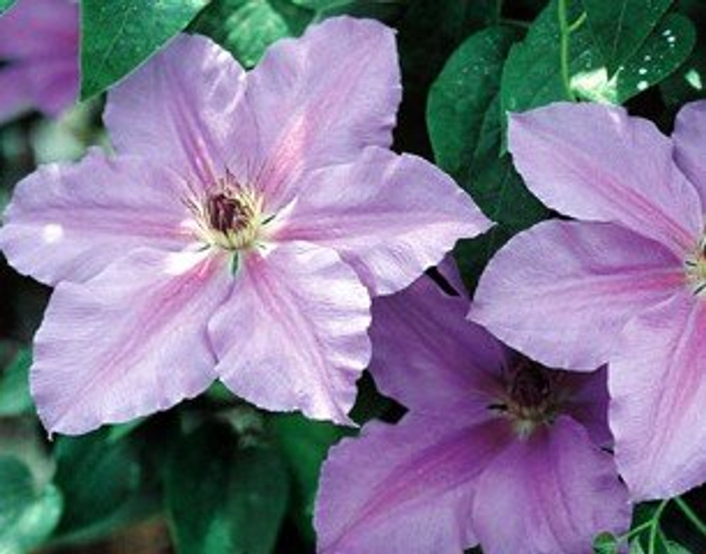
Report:
M 606 372 L 546 370 L 465 319 L 429 278 L 373 302 L 371 372 L 409 413 L 334 447 L 322 554 L 588 553 L 630 524 Z

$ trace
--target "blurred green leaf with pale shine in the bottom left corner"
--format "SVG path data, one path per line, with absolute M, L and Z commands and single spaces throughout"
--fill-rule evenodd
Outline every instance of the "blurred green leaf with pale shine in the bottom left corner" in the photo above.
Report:
M 0 456 L 0 553 L 25 554 L 39 546 L 54 530 L 62 505 L 54 485 L 37 490 L 24 464 Z

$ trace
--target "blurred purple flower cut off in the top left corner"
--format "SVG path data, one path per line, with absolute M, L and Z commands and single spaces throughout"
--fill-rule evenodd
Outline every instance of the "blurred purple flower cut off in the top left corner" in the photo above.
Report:
M 0 17 L 0 123 L 37 108 L 56 116 L 78 94 L 78 5 L 19 0 Z

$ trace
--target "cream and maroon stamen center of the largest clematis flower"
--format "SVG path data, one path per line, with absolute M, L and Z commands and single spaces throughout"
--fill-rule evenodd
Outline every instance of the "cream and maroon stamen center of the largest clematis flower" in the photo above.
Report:
M 245 250 L 258 240 L 262 201 L 254 191 L 226 172 L 204 199 L 189 203 L 196 218 L 197 237 L 228 251 Z

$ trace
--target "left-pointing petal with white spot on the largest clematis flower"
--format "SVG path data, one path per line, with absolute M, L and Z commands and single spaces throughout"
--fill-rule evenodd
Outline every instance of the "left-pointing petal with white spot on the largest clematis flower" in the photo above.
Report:
M 183 247 L 182 189 L 147 160 L 97 150 L 78 164 L 44 165 L 16 187 L 0 248 L 43 283 L 85 281 L 136 247 Z

